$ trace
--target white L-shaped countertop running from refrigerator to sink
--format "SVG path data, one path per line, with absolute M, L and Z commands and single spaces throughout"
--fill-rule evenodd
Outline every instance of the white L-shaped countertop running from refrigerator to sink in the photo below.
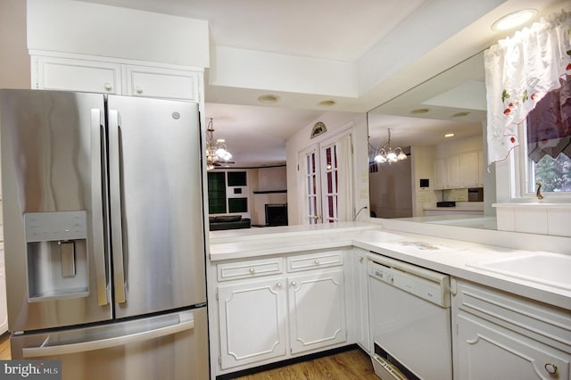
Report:
M 522 250 L 391 231 L 363 222 L 217 231 L 210 240 L 212 262 L 355 246 L 571 310 L 571 291 L 468 266 L 529 253 Z

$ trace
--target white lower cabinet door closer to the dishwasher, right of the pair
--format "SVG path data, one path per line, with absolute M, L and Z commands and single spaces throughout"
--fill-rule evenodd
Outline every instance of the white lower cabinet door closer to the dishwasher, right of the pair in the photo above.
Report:
M 292 353 L 347 340 L 343 270 L 288 277 Z

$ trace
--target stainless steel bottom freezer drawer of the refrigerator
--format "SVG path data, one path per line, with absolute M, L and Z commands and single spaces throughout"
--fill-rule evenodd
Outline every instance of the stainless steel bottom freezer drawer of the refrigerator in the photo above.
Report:
M 62 379 L 208 379 L 206 308 L 47 334 L 12 335 L 12 359 L 60 359 Z

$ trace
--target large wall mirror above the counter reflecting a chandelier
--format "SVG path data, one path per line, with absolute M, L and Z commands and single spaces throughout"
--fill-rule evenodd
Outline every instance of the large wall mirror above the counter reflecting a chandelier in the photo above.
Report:
M 485 110 L 480 53 L 368 112 L 371 217 L 495 228 Z

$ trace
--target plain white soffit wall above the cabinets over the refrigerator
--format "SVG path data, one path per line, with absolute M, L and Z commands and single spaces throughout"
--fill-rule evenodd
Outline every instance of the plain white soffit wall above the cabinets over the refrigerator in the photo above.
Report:
M 28 0 L 28 25 L 30 50 L 210 66 L 208 21 L 70 0 Z

